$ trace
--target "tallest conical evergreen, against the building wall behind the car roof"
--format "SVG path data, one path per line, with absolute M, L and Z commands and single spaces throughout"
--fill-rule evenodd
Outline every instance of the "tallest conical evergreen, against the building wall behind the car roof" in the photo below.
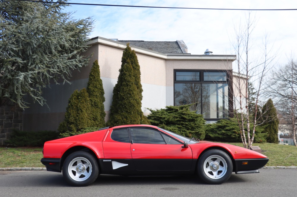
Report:
M 135 51 L 129 43 L 123 52 L 118 82 L 113 88 L 108 126 L 150 124 L 141 110 L 142 85 L 140 66 Z

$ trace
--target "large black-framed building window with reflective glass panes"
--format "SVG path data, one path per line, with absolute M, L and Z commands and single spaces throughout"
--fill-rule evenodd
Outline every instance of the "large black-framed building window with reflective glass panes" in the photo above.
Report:
M 174 105 L 193 104 L 191 110 L 205 119 L 228 118 L 226 71 L 175 70 Z

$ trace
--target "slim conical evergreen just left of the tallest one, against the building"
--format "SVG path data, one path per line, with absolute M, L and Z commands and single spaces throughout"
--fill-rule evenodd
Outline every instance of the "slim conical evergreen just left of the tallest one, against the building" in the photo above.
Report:
M 95 60 L 89 75 L 87 86 L 91 102 L 91 125 L 92 127 L 105 127 L 105 111 L 104 111 L 104 89 L 100 78 L 100 69 L 98 60 Z

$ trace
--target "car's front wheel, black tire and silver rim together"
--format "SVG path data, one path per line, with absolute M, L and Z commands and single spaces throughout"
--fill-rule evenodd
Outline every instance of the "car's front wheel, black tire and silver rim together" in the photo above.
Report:
M 233 164 L 229 155 L 219 149 L 211 149 L 203 153 L 197 164 L 198 175 L 209 184 L 226 182 L 232 171 Z

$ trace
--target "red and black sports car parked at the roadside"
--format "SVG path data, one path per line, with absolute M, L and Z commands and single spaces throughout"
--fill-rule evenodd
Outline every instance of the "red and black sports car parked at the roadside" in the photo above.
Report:
M 93 183 L 99 174 L 192 175 L 221 184 L 236 174 L 258 173 L 268 158 L 223 143 L 196 141 L 151 125 L 106 127 L 45 142 L 42 164 L 63 172 L 75 186 Z

